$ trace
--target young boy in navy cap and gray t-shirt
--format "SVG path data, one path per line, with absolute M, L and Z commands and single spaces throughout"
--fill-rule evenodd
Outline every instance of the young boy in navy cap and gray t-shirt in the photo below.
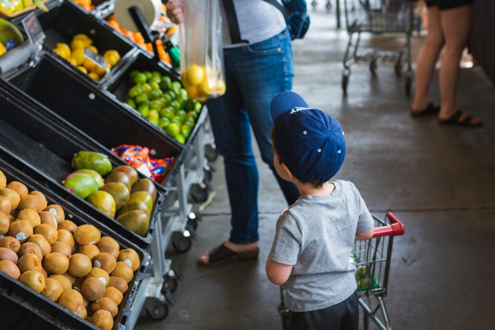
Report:
M 340 123 L 308 108 L 296 93 L 271 103 L 273 159 L 300 198 L 277 221 L 266 275 L 285 290 L 290 329 L 357 330 L 354 240 L 373 235 L 373 218 L 356 187 L 330 179 L 346 156 Z

